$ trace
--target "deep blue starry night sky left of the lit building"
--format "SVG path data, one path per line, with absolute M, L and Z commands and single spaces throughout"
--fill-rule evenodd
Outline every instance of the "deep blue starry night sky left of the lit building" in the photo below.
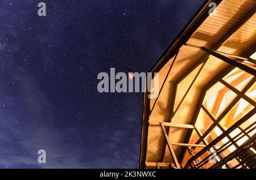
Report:
M 0 168 L 138 168 L 143 93 L 97 75 L 150 70 L 203 2 L 0 0 Z

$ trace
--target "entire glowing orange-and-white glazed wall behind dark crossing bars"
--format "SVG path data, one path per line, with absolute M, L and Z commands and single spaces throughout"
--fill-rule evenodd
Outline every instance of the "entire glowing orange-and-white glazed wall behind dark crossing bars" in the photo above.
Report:
M 250 144 L 249 141 L 251 141 L 251 138 L 255 136 L 256 114 L 251 115 L 247 120 L 243 119 L 246 121 L 240 126 L 234 128 L 229 132 L 229 134 L 225 133 L 225 131 L 233 126 L 234 123 L 240 121 L 247 113 L 255 108 L 253 101 L 256 101 L 256 82 L 253 78 L 253 75 L 241 70 L 240 68 L 234 68 L 228 75 L 222 78 L 220 82 L 215 83 L 205 93 L 203 104 L 201 104 L 201 109 L 195 122 L 195 128 L 199 135 L 195 130 L 193 130 L 189 143 L 194 144 L 196 142 L 200 142 L 201 144 L 205 143 L 208 145 L 219 136 L 223 136 L 223 138 L 215 141 L 214 144 L 212 144 L 213 146 L 208 146 L 206 148 L 207 151 L 203 150 L 204 152 L 201 153 L 199 158 L 202 161 L 204 161 L 203 159 L 209 155 L 208 148 L 214 147 L 214 149 L 217 150 L 217 161 L 220 161 L 221 159 L 229 156 L 230 153 L 240 149 L 240 146 L 243 146 L 242 148 L 244 148 L 244 145 L 246 145 L 247 147 L 247 145 Z M 228 85 L 227 87 L 225 85 L 226 83 L 223 81 L 228 83 L 230 86 Z M 249 83 L 253 85 L 248 87 Z M 240 93 L 238 91 L 240 91 Z M 245 96 L 249 97 L 253 101 L 250 101 L 249 98 Z M 236 100 L 236 103 L 234 100 Z M 233 106 L 230 106 L 231 104 Z M 227 108 L 229 110 L 226 110 Z M 199 141 L 199 136 L 203 142 L 201 140 Z M 192 148 L 195 153 L 202 149 L 205 148 Z M 255 153 L 255 149 L 253 147 L 250 147 L 249 151 Z M 186 157 L 188 158 L 188 154 Z M 226 165 L 222 165 L 220 167 L 232 168 L 236 166 L 236 168 L 242 168 L 245 166 L 250 168 L 250 164 L 241 165 L 242 161 L 244 161 L 244 158 L 242 156 L 237 156 L 232 160 L 229 160 Z M 205 162 L 204 166 L 201 168 L 210 168 L 210 166 L 212 166 L 211 163 Z

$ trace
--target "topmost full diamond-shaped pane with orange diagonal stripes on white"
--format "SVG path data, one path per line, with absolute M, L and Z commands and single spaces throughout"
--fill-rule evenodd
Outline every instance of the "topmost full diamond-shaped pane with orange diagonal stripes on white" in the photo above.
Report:
M 242 89 L 249 83 L 253 78 L 253 75 L 241 70 L 240 68 L 234 68 L 228 75 L 226 75 L 223 80 L 232 85 L 234 88 L 242 91 Z

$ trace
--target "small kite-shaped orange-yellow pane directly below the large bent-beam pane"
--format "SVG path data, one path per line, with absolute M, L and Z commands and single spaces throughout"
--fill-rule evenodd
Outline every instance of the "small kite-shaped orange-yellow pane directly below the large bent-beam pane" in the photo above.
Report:
M 204 132 L 207 131 L 210 125 L 212 124 L 213 124 L 212 119 L 201 108 L 199 115 L 196 119 L 196 124 L 195 124 L 196 129 L 201 132 L 201 135 L 203 135 Z

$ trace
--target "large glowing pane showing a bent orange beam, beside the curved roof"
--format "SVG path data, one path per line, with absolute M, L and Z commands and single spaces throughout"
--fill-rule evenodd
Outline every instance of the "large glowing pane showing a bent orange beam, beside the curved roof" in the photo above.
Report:
M 205 94 L 203 105 L 217 118 L 236 96 L 236 93 L 218 82 Z

